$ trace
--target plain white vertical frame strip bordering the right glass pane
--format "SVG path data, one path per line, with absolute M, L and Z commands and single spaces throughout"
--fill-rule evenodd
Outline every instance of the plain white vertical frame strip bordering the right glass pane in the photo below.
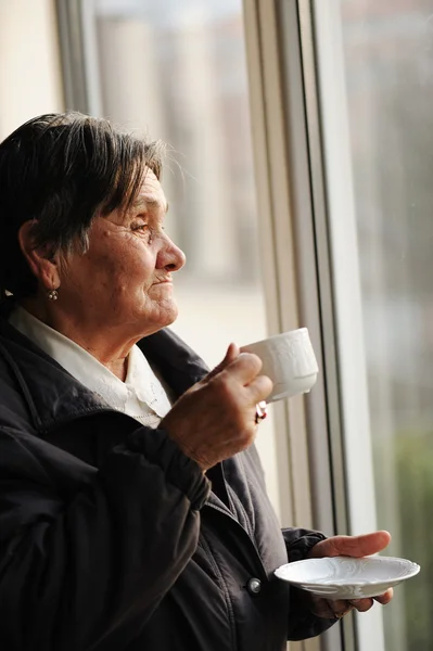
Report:
M 311 0 L 322 125 L 349 532 L 377 528 L 341 0 Z M 357 618 L 359 651 L 384 651 L 381 609 Z

